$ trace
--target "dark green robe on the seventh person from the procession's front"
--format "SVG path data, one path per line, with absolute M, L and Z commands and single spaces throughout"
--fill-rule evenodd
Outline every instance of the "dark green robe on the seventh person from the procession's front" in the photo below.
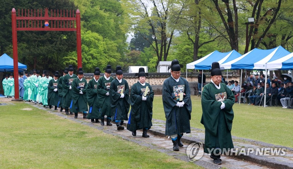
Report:
M 86 100 L 86 88 L 88 86 L 87 81 L 82 78 L 75 78 L 72 81 L 72 105 L 70 106 L 70 110 L 74 113 L 88 111 L 88 104 Z M 79 94 L 82 91 L 83 94 Z

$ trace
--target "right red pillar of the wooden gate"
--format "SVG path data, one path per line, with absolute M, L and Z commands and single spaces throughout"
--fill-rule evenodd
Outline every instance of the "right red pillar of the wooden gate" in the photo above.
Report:
M 76 48 L 77 48 L 77 68 L 82 68 L 80 12 L 78 9 L 76 10 Z

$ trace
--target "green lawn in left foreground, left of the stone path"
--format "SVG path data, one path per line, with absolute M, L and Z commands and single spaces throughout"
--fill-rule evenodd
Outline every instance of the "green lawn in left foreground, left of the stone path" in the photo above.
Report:
M 29 104 L 12 103 L 0 106 L 0 168 L 200 168 Z

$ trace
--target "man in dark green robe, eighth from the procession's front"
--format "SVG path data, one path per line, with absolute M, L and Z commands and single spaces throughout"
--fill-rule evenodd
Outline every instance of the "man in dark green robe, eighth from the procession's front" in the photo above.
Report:
M 64 76 L 63 82 L 62 82 L 62 96 L 64 98 L 63 100 L 63 106 L 65 108 L 65 113 L 69 114 L 69 107 L 72 103 L 72 81 L 77 76 L 73 74 L 73 66 L 68 66 L 68 74 Z M 70 114 L 73 114 L 73 112 L 70 110 Z

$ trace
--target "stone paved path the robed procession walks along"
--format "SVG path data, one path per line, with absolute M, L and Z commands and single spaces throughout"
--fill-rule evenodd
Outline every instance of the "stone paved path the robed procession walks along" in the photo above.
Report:
M 149 130 L 148 134 L 149 138 L 141 137 L 142 131 L 137 131 L 137 136 L 132 136 L 131 132 L 128 130 L 117 130 L 116 125 L 112 126 L 101 126 L 100 123 L 91 123 L 88 119 L 83 119 L 82 114 L 79 114 L 77 119 L 74 119 L 74 115 L 66 115 L 65 112 L 54 111 L 54 109 L 44 108 L 39 104 L 31 104 L 35 107 L 38 107 L 42 110 L 46 110 L 49 113 L 59 115 L 63 118 L 73 120 L 75 122 L 81 123 L 83 125 L 87 125 L 97 130 L 103 130 L 103 132 L 108 134 L 113 134 L 127 141 L 131 141 L 137 143 L 141 146 L 147 146 L 150 149 L 156 149 L 157 151 L 168 154 L 169 156 L 173 156 L 174 158 L 181 159 L 183 161 L 189 162 L 189 158 L 186 155 L 186 148 L 192 142 L 204 142 L 204 131 L 201 129 L 192 128 L 192 132 L 190 134 L 185 134 L 183 139 L 183 147 L 180 147 L 180 151 L 173 151 L 173 143 L 170 138 L 164 136 L 165 132 L 165 121 L 153 119 L 153 126 L 151 130 Z M 59 109 L 59 108 L 58 108 Z M 106 124 L 106 123 L 105 123 Z M 127 121 L 124 122 L 127 124 Z M 125 127 L 126 128 L 126 127 Z M 243 140 L 243 138 L 233 137 L 233 139 Z M 255 143 L 255 144 L 252 144 Z M 254 140 L 244 139 L 243 142 L 234 142 L 235 148 L 241 147 L 272 147 L 276 145 L 265 144 L 262 142 L 256 142 Z M 290 149 L 290 148 L 288 148 Z M 291 149 L 293 152 L 293 149 Z M 266 168 L 293 168 L 293 153 L 287 153 L 286 156 L 256 156 L 255 158 L 235 158 L 234 156 L 222 156 L 222 165 L 216 165 L 213 163 L 212 159 L 208 154 L 204 153 L 203 157 L 199 160 L 193 162 L 197 165 L 200 165 L 204 168 L 214 169 L 214 168 L 229 168 L 229 169 L 266 169 Z M 267 165 L 268 161 L 273 161 L 274 165 Z M 286 166 L 284 167 L 284 163 Z M 282 165 L 281 165 L 282 164 Z M 288 164 L 288 166 L 287 166 Z

